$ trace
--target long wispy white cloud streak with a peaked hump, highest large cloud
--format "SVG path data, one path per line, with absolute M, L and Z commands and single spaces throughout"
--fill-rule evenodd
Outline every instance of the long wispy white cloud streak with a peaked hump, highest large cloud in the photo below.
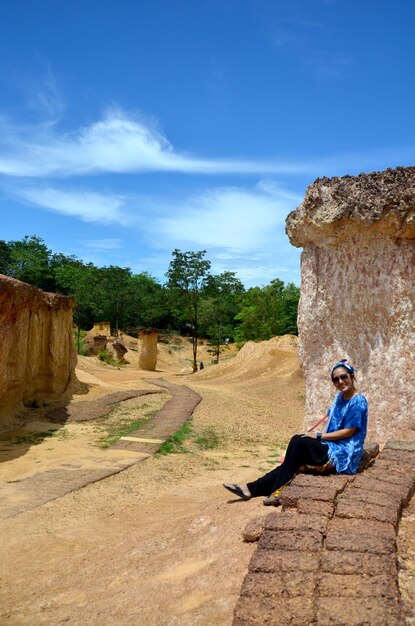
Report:
M 55 126 L 18 127 L 0 119 L 0 174 L 13 177 L 99 173 L 300 174 L 313 164 L 203 159 L 176 150 L 151 124 L 120 109 L 90 126 L 59 135 Z

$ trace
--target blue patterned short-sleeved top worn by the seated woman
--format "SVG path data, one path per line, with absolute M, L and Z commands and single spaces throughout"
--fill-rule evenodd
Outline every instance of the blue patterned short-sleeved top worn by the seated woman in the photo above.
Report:
M 352 437 L 338 441 L 322 441 L 329 448 L 329 459 L 337 473 L 356 474 L 363 453 L 363 443 L 367 431 L 367 400 L 358 393 L 345 400 L 342 393 L 336 393 L 328 410 L 329 421 L 324 432 L 331 433 L 342 428 L 357 428 Z

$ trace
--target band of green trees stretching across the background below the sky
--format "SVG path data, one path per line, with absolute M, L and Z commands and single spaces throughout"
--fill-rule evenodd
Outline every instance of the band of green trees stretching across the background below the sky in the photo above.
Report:
M 243 343 L 275 335 L 297 334 L 300 290 L 278 278 L 265 287 L 245 289 L 234 272 L 212 274 L 206 251 L 174 250 L 160 283 L 147 272 L 128 267 L 97 267 L 73 255 L 53 253 L 37 236 L 0 240 L 0 273 L 63 295 L 74 296 L 74 322 L 89 329 L 108 321 L 114 331 L 136 334 L 140 328 L 187 331 L 210 340 L 219 360 L 225 340 Z

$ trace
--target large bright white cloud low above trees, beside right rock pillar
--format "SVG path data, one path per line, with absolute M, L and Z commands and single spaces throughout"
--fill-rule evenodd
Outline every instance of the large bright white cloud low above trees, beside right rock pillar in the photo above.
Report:
M 247 286 L 265 285 L 276 277 L 298 283 L 300 251 L 288 241 L 285 217 L 300 200 L 268 180 L 249 189 L 206 190 L 164 208 L 159 203 L 159 216 L 142 223 L 153 249 L 159 250 L 145 265 L 165 271 L 174 248 L 206 249 L 214 273 L 234 271 Z M 133 261 L 132 267 L 142 270 L 139 262 Z

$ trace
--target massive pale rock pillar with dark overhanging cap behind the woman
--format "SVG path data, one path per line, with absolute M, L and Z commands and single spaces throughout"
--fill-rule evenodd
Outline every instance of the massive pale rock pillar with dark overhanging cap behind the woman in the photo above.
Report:
M 330 405 L 330 366 L 356 366 L 369 434 L 415 434 L 415 168 L 322 178 L 286 221 L 303 247 L 306 426 Z

